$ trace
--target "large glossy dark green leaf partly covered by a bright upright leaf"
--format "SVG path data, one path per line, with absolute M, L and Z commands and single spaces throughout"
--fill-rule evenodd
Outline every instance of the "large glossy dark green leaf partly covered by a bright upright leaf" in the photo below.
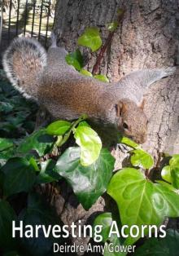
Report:
M 115 160 L 107 149 L 102 149 L 93 165 L 81 166 L 80 154 L 80 148 L 68 148 L 59 157 L 55 171 L 67 179 L 78 201 L 87 210 L 106 191 Z

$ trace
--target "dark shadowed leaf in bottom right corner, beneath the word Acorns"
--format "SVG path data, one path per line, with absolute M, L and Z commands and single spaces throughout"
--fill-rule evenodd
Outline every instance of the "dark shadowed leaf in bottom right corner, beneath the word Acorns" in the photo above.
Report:
M 179 233 L 177 230 L 168 229 L 164 238 L 146 239 L 138 247 L 134 256 L 177 256 L 179 251 Z

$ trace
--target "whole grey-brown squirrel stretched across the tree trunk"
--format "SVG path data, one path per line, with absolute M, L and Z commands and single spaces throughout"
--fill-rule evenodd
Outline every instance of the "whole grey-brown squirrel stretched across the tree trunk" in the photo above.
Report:
M 3 55 L 7 77 L 25 97 L 44 105 L 55 119 L 72 121 L 85 113 L 89 121 L 113 127 L 137 143 L 146 141 L 143 95 L 148 86 L 176 68 L 142 69 L 109 84 L 68 65 L 53 38 L 49 50 L 33 38 L 15 38 Z

